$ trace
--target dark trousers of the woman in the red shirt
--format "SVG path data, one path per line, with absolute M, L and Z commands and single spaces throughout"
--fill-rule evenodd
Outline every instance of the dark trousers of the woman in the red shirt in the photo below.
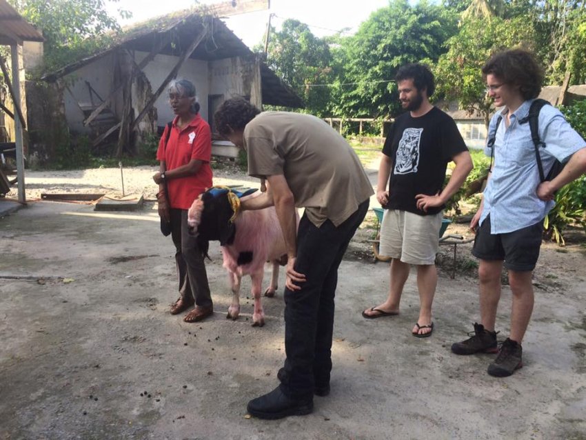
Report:
M 188 233 L 187 210 L 171 209 L 171 238 L 175 245 L 175 265 L 181 298 L 189 303 L 195 301 L 196 306 L 211 307 L 208 274 L 196 237 Z

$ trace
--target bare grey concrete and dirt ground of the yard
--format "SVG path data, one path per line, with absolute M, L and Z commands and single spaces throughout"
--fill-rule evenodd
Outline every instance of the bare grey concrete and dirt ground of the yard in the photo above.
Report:
M 469 244 L 458 246 L 455 279 L 452 248 L 441 249 L 432 337 L 410 334 L 414 272 L 400 315 L 361 317 L 389 283 L 387 263 L 373 262 L 367 242 L 376 227 L 370 213 L 339 271 L 330 396 L 316 397 L 308 416 L 262 421 L 245 407 L 276 386 L 285 359 L 282 290 L 264 301 L 267 324 L 253 328 L 245 280 L 241 317 L 225 319 L 228 280 L 212 243 L 214 317 L 188 324 L 171 316 L 174 248 L 159 232 L 154 172 L 124 170 L 125 192 L 147 200 L 136 212 L 35 201 L 41 192 L 119 194 L 118 169 L 27 172 L 30 203 L 0 219 L 1 440 L 586 439 L 583 234 L 563 249 L 543 246 L 524 367 L 496 379 L 486 374 L 492 355 L 449 350 L 478 320 Z M 374 183 L 376 167 L 368 172 Z M 232 168 L 215 176 L 258 186 Z M 505 286 L 501 340 L 509 304 Z

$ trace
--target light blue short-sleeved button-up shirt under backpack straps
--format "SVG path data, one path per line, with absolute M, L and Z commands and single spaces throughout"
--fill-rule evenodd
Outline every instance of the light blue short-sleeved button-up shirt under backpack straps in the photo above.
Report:
M 510 115 L 508 127 L 505 124 L 507 109 L 500 112 L 503 120 L 496 130 L 494 167 L 484 190 L 480 220 L 482 224 L 490 214 L 491 234 L 505 234 L 532 226 L 542 221 L 554 207 L 554 201 L 546 202 L 537 197 L 540 177 L 531 130 L 529 123 L 519 123 L 529 114 L 532 101 L 525 101 Z M 494 132 L 497 117 L 498 112 L 490 121 L 487 139 L 492 137 L 490 133 Z M 586 147 L 584 139 L 554 106 L 543 106 L 538 126 L 539 139 L 545 142 L 545 148 L 539 150 L 545 175 L 555 159 L 565 162 L 574 152 Z M 485 154 L 490 156 L 490 153 L 490 148 L 486 147 Z

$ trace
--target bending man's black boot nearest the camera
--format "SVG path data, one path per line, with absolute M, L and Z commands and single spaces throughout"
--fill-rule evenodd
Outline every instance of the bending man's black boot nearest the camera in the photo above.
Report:
M 302 416 L 310 414 L 314 409 L 312 397 L 305 399 L 294 399 L 287 397 L 281 391 L 281 387 L 276 387 L 271 392 L 256 397 L 248 402 L 246 410 L 249 414 L 259 419 L 281 419 L 287 416 Z

